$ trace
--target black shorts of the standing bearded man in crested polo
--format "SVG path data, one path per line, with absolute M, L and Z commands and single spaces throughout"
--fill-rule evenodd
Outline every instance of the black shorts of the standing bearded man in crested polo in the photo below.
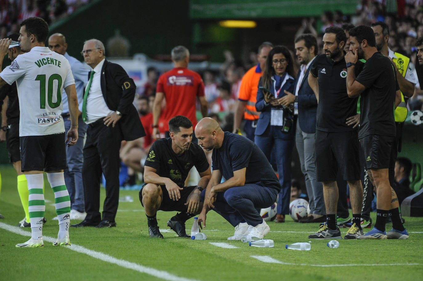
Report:
M 360 154 L 357 131 L 324 132 L 316 130 L 317 181 L 337 179 L 338 169 L 343 180 L 360 180 Z

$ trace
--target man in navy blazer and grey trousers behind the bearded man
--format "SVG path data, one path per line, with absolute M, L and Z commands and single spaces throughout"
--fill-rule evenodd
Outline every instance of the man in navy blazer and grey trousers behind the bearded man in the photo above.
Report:
M 309 197 L 310 214 L 300 222 L 324 222 L 325 205 L 323 186 L 316 180 L 316 162 L 314 157 L 314 135 L 316 134 L 317 99 L 308 85 L 308 74 L 317 55 L 317 41 L 311 34 L 302 34 L 295 39 L 296 55 L 301 64 L 300 71 L 294 81 L 294 94 L 287 93 L 284 105 L 294 103 L 298 114 L 296 142 L 301 163 L 301 171 L 305 177 L 305 186 Z

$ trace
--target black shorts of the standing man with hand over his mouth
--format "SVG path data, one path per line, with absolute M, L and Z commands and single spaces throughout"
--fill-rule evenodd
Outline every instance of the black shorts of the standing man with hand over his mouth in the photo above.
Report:
M 388 169 L 395 166 L 395 136 L 368 135 L 360 139 L 365 168 Z

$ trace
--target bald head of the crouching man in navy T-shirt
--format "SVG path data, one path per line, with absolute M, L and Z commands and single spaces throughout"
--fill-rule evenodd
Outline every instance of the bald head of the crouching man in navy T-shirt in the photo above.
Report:
M 210 117 L 204 117 L 195 126 L 195 136 L 198 139 L 198 145 L 206 151 L 222 146 L 225 133 L 216 120 Z

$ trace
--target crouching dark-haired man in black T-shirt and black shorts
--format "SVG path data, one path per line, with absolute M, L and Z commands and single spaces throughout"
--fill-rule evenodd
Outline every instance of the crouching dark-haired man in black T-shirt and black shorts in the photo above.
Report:
M 201 191 L 209 183 L 211 172 L 206 155 L 200 146 L 192 143 L 192 123 L 185 116 L 169 120 L 170 138 L 156 140 L 144 164 L 144 186 L 140 202 L 146 210 L 148 234 L 163 238 L 157 226 L 156 213 L 178 211 L 168 226 L 179 237 L 190 237 L 185 232 L 185 221 L 200 213 L 203 203 Z M 184 186 L 188 172 L 195 166 L 200 174 L 197 186 Z

